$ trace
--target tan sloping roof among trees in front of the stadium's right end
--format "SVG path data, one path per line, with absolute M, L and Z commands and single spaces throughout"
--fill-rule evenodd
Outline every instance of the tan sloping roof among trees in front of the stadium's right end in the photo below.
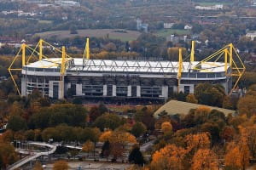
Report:
M 234 114 L 236 112 L 233 110 L 223 109 L 223 108 L 219 108 L 219 107 L 212 107 L 209 105 L 198 105 L 198 104 L 191 104 L 191 103 L 183 102 L 183 101 L 171 100 L 171 101 L 167 102 L 165 105 L 162 105 L 157 111 L 155 111 L 154 116 L 158 117 L 158 115 L 162 111 L 166 111 L 168 115 L 176 115 L 176 114 L 187 115 L 187 114 L 189 114 L 189 111 L 191 109 L 196 109 L 200 106 L 209 107 L 211 110 L 222 111 L 225 116 L 229 115 L 230 113 Z

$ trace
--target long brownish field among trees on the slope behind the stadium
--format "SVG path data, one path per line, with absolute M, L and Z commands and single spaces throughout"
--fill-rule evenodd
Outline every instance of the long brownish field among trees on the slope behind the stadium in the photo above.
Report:
M 42 38 L 56 37 L 57 39 L 63 39 L 67 37 L 109 37 L 111 39 L 119 39 L 123 42 L 136 40 L 140 36 L 139 31 L 120 31 L 116 29 L 87 29 L 78 30 L 78 34 L 70 34 L 70 31 L 46 31 L 35 34 Z

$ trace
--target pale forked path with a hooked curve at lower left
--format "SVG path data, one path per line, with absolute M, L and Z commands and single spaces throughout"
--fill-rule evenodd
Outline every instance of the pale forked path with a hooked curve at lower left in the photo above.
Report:
M 22 165 L 26 164 L 29 161 L 32 161 L 32 160 L 38 158 L 39 156 L 48 156 L 50 154 L 53 154 L 56 150 L 56 146 L 52 145 L 52 144 L 46 144 L 46 143 L 40 143 L 40 142 L 29 142 L 28 144 L 46 146 L 46 147 L 49 147 L 50 150 L 49 151 L 44 151 L 44 152 L 33 152 L 33 151 L 17 149 L 16 151 L 18 151 L 19 153 L 21 153 L 21 154 L 30 154 L 30 156 L 26 156 L 23 159 L 21 159 L 20 161 L 16 161 L 14 164 L 7 167 L 8 170 L 15 170 L 16 168 L 21 167 Z

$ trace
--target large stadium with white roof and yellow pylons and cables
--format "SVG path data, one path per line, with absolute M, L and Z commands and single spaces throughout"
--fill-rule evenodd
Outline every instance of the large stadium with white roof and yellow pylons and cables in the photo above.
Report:
M 65 47 L 55 48 L 60 58 L 44 56 L 40 40 L 35 48 L 23 44 L 15 59 L 21 57 L 20 68 L 9 66 L 9 73 L 21 71 L 18 94 L 26 96 L 38 89 L 43 97 L 64 99 L 162 99 L 174 93 L 194 94 L 201 82 L 221 84 L 230 94 L 245 71 L 245 67 L 232 44 L 201 61 L 195 61 L 195 42 L 192 42 L 189 61 L 183 61 L 182 48 L 178 61 L 90 59 L 89 39 L 83 58 L 72 58 Z M 27 55 L 27 51 L 32 51 Z M 31 58 L 37 60 L 30 62 Z M 235 77 L 235 79 L 233 78 Z M 235 80 L 235 81 L 234 81 Z

